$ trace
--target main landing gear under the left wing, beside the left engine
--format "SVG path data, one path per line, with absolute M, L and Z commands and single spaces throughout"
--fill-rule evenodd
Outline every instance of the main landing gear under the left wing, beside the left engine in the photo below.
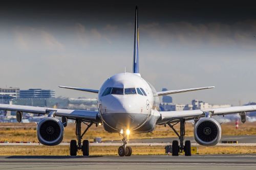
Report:
M 87 125 L 86 130 L 84 130 L 82 134 L 81 134 L 81 123 Z M 78 150 L 82 150 L 83 156 L 89 156 L 89 141 L 88 140 L 82 141 L 82 137 L 92 125 L 93 125 L 93 123 L 89 124 L 89 123 L 82 122 L 81 119 L 76 119 L 76 137 L 77 137 L 78 142 L 76 143 L 76 140 L 70 141 L 70 155 L 71 156 L 76 156 Z

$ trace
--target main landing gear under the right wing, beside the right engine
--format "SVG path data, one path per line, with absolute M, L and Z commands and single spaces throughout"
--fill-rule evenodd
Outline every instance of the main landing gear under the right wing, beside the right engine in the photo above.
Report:
M 179 122 L 178 122 L 179 123 Z M 176 123 L 176 124 L 178 124 Z M 167 123 L 170 128 L 173 129 L 173 131 L 176 133 L 176 135 L 179 137 L 180 145 L 178 140 L 174 140 L 172 144 L 172 155 L 173 156 L 179 156 L 179 152 L 184 151 L 185 156 L 191 156 L 191 142 L 190 140 L 186 140 L 184 144 L 184 137 L 185 137 L 185 119 L 180 119 L 180 134 L 174 129 L 174 125 L 176 124 L 170 124 Z

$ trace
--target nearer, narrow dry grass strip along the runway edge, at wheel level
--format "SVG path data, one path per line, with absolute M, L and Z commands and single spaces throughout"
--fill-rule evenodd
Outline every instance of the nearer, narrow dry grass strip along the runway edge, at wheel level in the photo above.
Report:
M 117 146 L 91 146 L 90 155 L 117 155 Z M 164 155 L 163 146 L 133 146 L 133 155 Z M 0 146 L 0 155 L 69 155 L 68 145 Z M 256 147 L 198 147 L 198 154 L 248 154 L 256 153 Z M 81 151 L 78 155 L 82 155 Z

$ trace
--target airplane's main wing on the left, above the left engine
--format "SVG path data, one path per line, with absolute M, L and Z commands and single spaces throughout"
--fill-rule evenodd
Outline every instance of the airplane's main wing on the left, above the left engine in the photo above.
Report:
M 69 119 L 81 118 L 89 122 L 99 123 L 98 111 L 89 110 L 69 110 L 69 109 L 54 109 L 47 107 L 21 106 L 21 105 L 6 105 L 0 104 L 0 110 L 21 111 L 26 113 L 49 114 L 53 112 L 55 116 L 66 116 Z

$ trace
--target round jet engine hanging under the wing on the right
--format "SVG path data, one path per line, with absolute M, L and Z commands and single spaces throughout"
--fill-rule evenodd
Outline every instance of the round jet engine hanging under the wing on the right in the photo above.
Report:
M 221 126 L 214 118 L 200 118 L 194 128 L 194 136 L 201 145 L 216 145 L 221 139 Z

